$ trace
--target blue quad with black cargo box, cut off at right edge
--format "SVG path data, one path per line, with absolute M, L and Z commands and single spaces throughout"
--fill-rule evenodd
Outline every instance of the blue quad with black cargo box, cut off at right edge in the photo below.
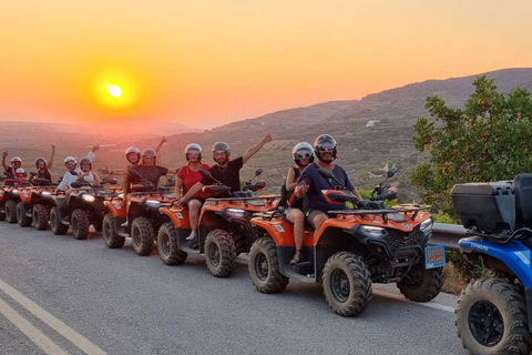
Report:
M 467 285 L 454 324 L 473 355 L 532 351 L 532 174 L 512 181 L 457 184 L 452 203 L 470 237 L 460 251 L 482 257 L 492 276 Z

